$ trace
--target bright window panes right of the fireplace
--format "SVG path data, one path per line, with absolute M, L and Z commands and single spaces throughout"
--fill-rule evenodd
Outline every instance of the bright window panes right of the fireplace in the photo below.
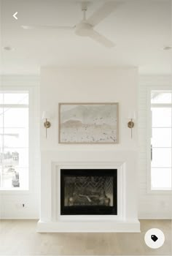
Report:
M 151 189 L 171 190 L 171 91 L 151 91 Z

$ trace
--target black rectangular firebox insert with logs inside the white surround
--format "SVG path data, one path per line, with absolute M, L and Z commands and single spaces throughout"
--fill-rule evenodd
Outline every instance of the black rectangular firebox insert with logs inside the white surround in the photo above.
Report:
M 60 169 L 60 215 L 117 215 L 117 169 Z

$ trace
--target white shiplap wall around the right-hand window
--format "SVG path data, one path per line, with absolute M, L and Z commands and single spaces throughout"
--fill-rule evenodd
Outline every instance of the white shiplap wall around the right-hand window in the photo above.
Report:
M 157 89 L 158 86 L 168 86 L 172 89 L 171 76 L 142 76 L 139 82 L 139 112 L 138 112 L 138 135 L 139 135 L 139 205 L 138 217 L 141 219 L 171 219 L 172 217 L 172 194 L 150 193 L 148 190 L 147 176 L 147 148 L 146 148 L 146 130 L 147 130 L 147 95 L 150 88 Z

